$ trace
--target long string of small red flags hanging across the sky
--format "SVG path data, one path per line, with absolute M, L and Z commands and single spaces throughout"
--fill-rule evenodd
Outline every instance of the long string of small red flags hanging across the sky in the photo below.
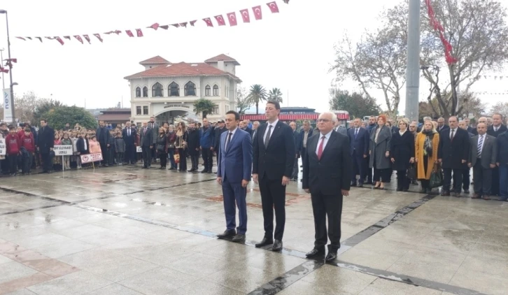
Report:
M 290 0 L 283 0 L 284 3 L 288 4 Z M 276 1 L 271 1 L 269 3 L 266 3 L 267 7 L 269 8 L 270 12 L 271 13 L 278 13 L 279 10 L 278 10 L 278 6 L 277 6 L 277 3 Z M 258 5 L 258 6 L 253 6 L 251 9 L 249 8 L 246 8 L 246 9 L 242 9 L 239 11 L 240 15 L 241 15 L 241 20 L 243 20 L 244 23 L 249 23 L 251 22 L 251 11 L 252 11 L 252 14 L 254 16 L 254 19 L 255 20 L 262 20 L 262 7 L 264 6 L 261 6 L 261 5 Z M 266 9 L 266 8 L 265 8 Z M 206 24 L 206 27 L 214 27 L 214 23 L 213 23 L 213 20 L 215 20 L 215 22 L 217 23 L 217 26 L 220 27 L 220 26 L 226 26 L 226 19 L 227 19 L 227 23 L 230 24 L 230 27 L 234 27 L 234 26 L 237 26 L 238 24 L 238 19 L 237 19 L 237 13 L 236 12 L 231 12 L 231 13 L 226 13 L 226 18 L 223 17 L 223 15 L 216 15 L 216 16 L 213 16 L 213 17 L 205 17 L 203 18 L 203 22 Z M 195 27 L 195 24 L 198 20 L 190 20 L 188 22 L 177 22 L 177 23 L 174 23 L 174 24 L 159 24 L 157 22 L 155 22 L 154 24 L 146 27 L 146 29 L 154 29 L 155 31 L 157 31 L 157 29 L 169 29 L 169 27 L 176 27 L 176 28 L 179 28 L 179 27 L 184 27 L 184 28 L 187 28 L 188 25 L 190 27 Z M 106 31 L 102 34 L 106 34 L 106 35 L 112 35 L 112 34 L 115 34 L 115 35 L 120 35 L 122 34 L 123 32 L 125 31 L 125 34 L 129 37 L 143 37 L 143 31 L 141 29 L 135 29 L 135 30 L 132 30 L 132 29 L 126 29 L 126 30 L 118 30 L 118 29 L 115 29 L 115 30 L 112 30 L 112 31 Z M 66 40 L 69 40 L 71 41 L 73 38 L 76 39 L 77 41 L 79 41 L 81 44 L 84 44 L 85 41 L 87 41 L 87 43 L 91 44 L 92 43 L 92 40 L 91 38 L 95 37 L 97 38 L 101 43 L 104 41 L 104 39 L 102 38 L 101 34 L 99 33 L 95 33 L 95 34 L 79 34 L 79 35 L 68 35 L 68 36 L 63 36 L 63 38 L 61 38 L 60 36 L 44 36 L 44 37 L 26 37 L 26 36 L 16 36 L 15 38 L 18 38 L 22 41 L 35 41 L 35 40 L 38 40 L 38 41 L 41 41 L 41 43 L 43 42 L 43 39 L 48 39 L 48 40 L 56 40 L 58 43 L 60 43 L 61 45 L 64 45 L 65 44 L 65 41 L 64 39 Z M 85 39 L 85 41 L 83 41 L 83 39 Z

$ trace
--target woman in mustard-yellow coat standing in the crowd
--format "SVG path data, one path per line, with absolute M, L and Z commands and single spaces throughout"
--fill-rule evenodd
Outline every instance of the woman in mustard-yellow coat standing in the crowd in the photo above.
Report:
M 439 133 L 432 121 L 423 123 L 422 131 L 416 136 L 415 161 L 418 164 L 416 178 L 421 182 L 421 193 L 430 194 L 430 174 L 437 164 L 437 150 L 439 148 Z

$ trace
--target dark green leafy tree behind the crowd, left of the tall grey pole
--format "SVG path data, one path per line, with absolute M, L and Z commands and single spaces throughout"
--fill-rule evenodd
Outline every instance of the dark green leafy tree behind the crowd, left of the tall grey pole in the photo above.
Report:
M 341 89 L 330 89 L 330 109 L 347 110 L 351 117 L 379 115 L 379 105 L 375 99 Z

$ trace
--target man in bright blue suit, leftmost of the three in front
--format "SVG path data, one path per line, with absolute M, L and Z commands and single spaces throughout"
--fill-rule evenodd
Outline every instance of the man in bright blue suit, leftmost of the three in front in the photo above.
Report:
M 233 242 L 245 241 L 247 231 L 247 185 L 251 180 L 252 142 L 251 134 L 238 128 L 239 113 L 226 113 L 227 131 L 220 135 L 217 182 L 223 186 L 226 231 L 218 238 L 233 238 Z M 235 202 L 238 206 L 239 226 L 236 227 Z

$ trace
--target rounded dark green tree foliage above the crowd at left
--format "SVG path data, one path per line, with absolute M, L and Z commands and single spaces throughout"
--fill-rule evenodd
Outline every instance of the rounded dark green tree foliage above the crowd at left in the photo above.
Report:
M 97 120 L 84 108 L 77 106 L 57 106 L 43 114 L 43 119 L 48 120 L 48 124 L 55 130 L 63 129 L 66 123 L 74 126 L 79 123 L 86 129 L 97 128 Z

